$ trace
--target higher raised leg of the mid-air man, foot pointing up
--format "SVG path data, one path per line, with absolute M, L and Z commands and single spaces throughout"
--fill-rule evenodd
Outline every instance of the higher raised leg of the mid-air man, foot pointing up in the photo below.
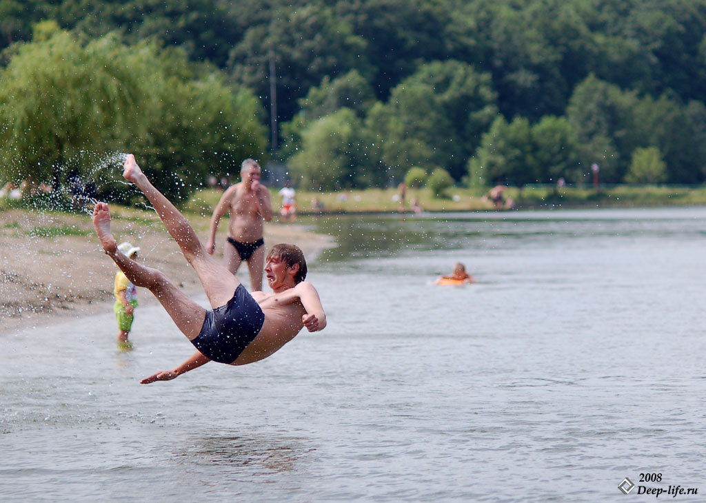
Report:
M 228 274 L 229 271 L 224 265 L 206 253 L 189 221 L 155 186 L 152 186 L 140 166 L 135 162 L 133 154 L 129 154 L 125 161 L 123 176 L 142 190 L 150 200 L 164 222 L 164 226 L 167 227 L 169 235 L 177 241 L 184 258 L 196 270 L 211 307 L 218 308 L 225 305 L 233 297 L 240 281 L 233 274 Z

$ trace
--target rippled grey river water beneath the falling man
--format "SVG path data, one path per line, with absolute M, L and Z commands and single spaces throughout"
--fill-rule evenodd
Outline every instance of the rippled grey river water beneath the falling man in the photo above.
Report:
M 262 362 L 138 384 L 158 305 L 0 334 L 0 500 L 702 501 L 706 208 L 304 223 L 329 325 Z

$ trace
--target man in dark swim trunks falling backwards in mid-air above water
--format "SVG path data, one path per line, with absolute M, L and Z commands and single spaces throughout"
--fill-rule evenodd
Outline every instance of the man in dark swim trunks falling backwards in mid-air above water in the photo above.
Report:
M 198 351 L 173 370 L 160 370 L 142 384 L 168 381 L 210 360 L 245 365 L 275 353 L 306 327 L 316 332 L 326 326 L 321 300 L 304 281 L 306 260 L 297 246 L 275 245 L 267 259 L 267 279 L 274 293 L 251 295 L 234 274 L 215 260 L 179 210 L 143 174 L 129 154 L 123 172 L 148 198 L 169 235 L 177 241 L 186 262 L 196 270 L 211 309 L 202 308 L 157 269 L 145 267 L 119 250 L 110 230 L 108 205 L 98 202 L 93 225 L 104 252 L 134 285 L 149 289 Z

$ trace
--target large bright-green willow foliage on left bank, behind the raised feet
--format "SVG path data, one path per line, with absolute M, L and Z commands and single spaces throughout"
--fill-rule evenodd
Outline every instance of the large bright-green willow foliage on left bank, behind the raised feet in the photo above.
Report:
M 37 34 L 0 73 L 5 176 L 59 186 L 78 171 L 106 195 L 126 199 L 134 191 L 115 182 L 119 174 L 104 178 L 91 163 L 96 153 L 131 151 L 155 186 L 184 200 L 207 173 L 263 152 L 256 98 L 234 93 L 214 68 L 189 63 L 184 51 L 128 47 L 114 36 L 84 44 L 49 25 Z

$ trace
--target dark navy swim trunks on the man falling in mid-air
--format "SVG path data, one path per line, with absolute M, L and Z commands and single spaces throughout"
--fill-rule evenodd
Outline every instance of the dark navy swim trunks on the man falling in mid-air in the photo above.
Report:
M 203 327 L 191 344 L 218 363 L 233 363 L 260 333 L 265 313 L 243 285 L 226 305 L 206 312 Z

